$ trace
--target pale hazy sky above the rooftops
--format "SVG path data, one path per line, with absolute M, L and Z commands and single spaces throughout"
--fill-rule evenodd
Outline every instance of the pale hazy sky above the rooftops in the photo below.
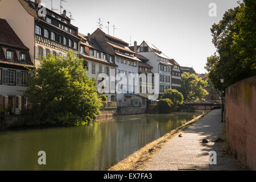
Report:
M 79 32 L 92 34 L 102 20 L 102 30 L 127 43 L 143 40 L 155 45 L 168 57 L 197 73 L 207 72 L 207 57 L 216 52 L 210 28 L 220 22 L 226 10 L 238 0 L 65 0 L 63 8 L 71 12 L 72 24 Z M 51 0 L 42 0 L 51 9 Z M 52 0 L 59 9 L 60 0 Z M 209 16 L 210 3 L 216 4 L 216 16 Z M 69 16 L 69 13 L 68 13 Z

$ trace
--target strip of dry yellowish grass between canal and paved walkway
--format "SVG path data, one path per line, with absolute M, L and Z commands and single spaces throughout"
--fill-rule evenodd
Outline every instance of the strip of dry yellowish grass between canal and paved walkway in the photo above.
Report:
M 187 127 L 191 126 L 193 123 L 199 121 L 199 119 L 203 118 L 210 111 L 207 111 L 195 119 L 185 123 L 184 125 L 177 127 L 174 130 L 171 130 L 169 133 L 164 135 L 163 137 L 154 140 L 153 142 L 148 143 L 143 148 L 134 152 L 126 159 L 121 160 L 121 162 L 115 164 L 113 167 L 109 168 L 109 171 L 139 171 L 143 170 L 146 167 L 146 164 L 150 162 L 152 158 L 164 147 L 164 145 L 171 138 L 175 137 L 177 134 L 180 134 L 181 131 L 187 129 Z

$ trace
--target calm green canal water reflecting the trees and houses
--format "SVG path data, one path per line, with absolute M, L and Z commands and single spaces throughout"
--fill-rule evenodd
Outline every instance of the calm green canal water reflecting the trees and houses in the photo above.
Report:
M 115 116 L 81 127 L 0 131 L 0 170 L 105 170 L 200 114 Z M 44 166 L 39 151 L 46 152 Z

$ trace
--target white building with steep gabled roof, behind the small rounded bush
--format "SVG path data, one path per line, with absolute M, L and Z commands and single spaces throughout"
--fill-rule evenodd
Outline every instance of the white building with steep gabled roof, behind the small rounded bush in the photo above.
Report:
M 171 59 L 164 55 L 162 51 L 156 48 L 153 44 L 143 41 L 140 46 L 135 42 L 134 50 L 139 55 L 148 59 L 147 64 L 151 65 L 151 71 L 154 74 L 159 74 L 159 94 L 163 94 L 164 90 L 171 88 L 171 69 L 173 64 Z M 156 81 L 156 80 L 154 80 Z

